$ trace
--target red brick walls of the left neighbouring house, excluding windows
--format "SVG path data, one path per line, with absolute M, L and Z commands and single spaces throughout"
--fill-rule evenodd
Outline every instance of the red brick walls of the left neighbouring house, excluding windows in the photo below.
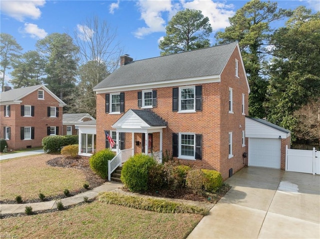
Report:
M 4 117 L 3 106 L 1 105 L 0 119 L 1 127 L 0 134 L 3 137 L 3 126 L 11 127 L 11 138 L 7 140 L 8 148 L 22 149 L 26 146 L 39 147 L 41 146 L 42 138 L 47 136 L 47 126 L 59 127 L 59 134 L 62 132 L 62 107 L 59 107 L 59 117 L 47 117 L 47 107 L 58 107 L 58 102 L 44 91 L 44 100 L 37 99 L 37 90 L 22 98 L 21 105 L 33 105 L 34 116 L 23 117 L 21 116 L 20 105 L 10 105 L 10 117 Z M 34 139 L 21 140 L 20 127 L 34 127 Z

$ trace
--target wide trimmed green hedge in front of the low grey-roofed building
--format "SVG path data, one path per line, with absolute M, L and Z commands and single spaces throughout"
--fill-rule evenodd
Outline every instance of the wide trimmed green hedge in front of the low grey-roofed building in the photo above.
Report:
M 63 146 L 77 143 L 77 135 L 54 135 L 47 136 L 42 139 L 42 147 L 45 153 L 57 153 L 60 152 Z

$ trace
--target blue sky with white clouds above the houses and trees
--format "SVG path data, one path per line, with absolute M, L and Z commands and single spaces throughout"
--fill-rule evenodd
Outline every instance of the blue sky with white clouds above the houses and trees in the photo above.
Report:
M 179 10 L 201 10 L 210 19 L 213 33 L 228 25 L 228 17 L 245 0 L 1 0 L 0 30 L 11 34 L 23 52 L 35 50 L 35 43 L 46 35 L 73 34 L 86 18 L 98 16 L 117 31 L 123 53 L 134 60 L 159 55 L 158 40 L 165 25 Z M 278 6 L 294 9 L 305 5 L 320 10 L 319 0 L 278 0 Z

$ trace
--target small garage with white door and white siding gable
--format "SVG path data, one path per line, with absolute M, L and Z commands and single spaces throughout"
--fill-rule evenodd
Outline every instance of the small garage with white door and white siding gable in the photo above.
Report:
M 290 131 L 263 119 L 245 118 L 248 166 L 285 170 L 285 146 L 290 147 Z

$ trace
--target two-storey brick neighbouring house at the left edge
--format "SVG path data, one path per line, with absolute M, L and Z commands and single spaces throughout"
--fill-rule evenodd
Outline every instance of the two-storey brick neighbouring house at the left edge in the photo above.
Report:
M 59 135 L 65 103 L 44 85 L 0 93 L 0 135 L 9 149 L 40 147 L 42 138 Z

